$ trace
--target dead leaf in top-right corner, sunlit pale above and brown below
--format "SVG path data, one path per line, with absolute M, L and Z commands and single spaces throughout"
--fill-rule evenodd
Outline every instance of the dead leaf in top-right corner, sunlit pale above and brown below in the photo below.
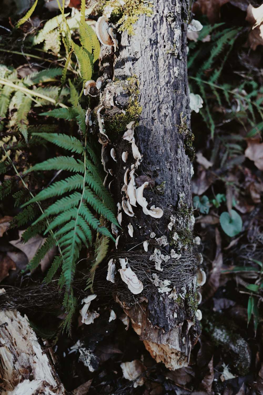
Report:
M 246 46 L 251 47 L 255 51 L 258 45 L 263 45 L 263 4 L 257 8 L 249 4 L 246 12 L 246 21 L 252 27 Z

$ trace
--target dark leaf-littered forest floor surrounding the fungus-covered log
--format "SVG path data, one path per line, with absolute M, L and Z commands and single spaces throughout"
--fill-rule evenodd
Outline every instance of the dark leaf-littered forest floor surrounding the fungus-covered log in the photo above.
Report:
M 251 21 L 248 4 L 198 0 L 192 7 L 192 18 L 204 26 L 194 32 L 194 40 L 189 36 L 188 60 L 190 91 L 203 101 L 201 107 L 200 98 L 193 96 L 199 105 L 191 117 L 196 151 L 192 193 L 194 237 L 201 239 L 207 281 L 199 305 L 201 336 L 188 367 L 168 371 L 155 363 L 110 297 L 91 302 L 100 314 L 92 325 L 83 325 L 77 313 L 71 336 L 62 334 L 63 314 L 54 306 L 50 311 L 48 294 L 44 307 L 34 305 L 34 289 L 50 261 L 32 275 L 21 274 L 43 241 L 18 246 L 21 233 L 8 228 L 17 211 L 12 201 L 0 205 L 0 286 L 7 292 L 31 287 L 26 307 L 21 303 L 18 309 L 27 314 L 41 344 L 45 339 L 63 384 L 75 395 L 263 393 L 263 6 Z M 0 24 L 9 26 L 7 13 L 0 17 Z M 12 64 L 22 77 L 37 67 L 37 60 L 8 54 L 1 41 L 0 51 L 2 64 Z M 35 152 L 42 154 L 41 149 Z M 109 322 L 109 310 L 117 319 L 112 313 Z M 127 361 L 134 362 L 125 365 Z M 128 380 L 129 369 L 130 378 L 138 378 Z

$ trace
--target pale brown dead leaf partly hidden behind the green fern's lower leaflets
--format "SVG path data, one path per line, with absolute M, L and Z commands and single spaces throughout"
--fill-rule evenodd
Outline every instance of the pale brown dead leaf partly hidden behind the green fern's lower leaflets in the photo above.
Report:
M 28 240 L 26 243 L 21 243 L 21 237 L 24 233 L 23 230 L 19 230 L 19 239 L 9 241 L 10 244 L 24 252 L 26 254 L 28 261 L 30 262 L 32 258 L 34 258 L 35 254 L 41 248 L 41 246 L 45 243 L 46 238 L 41 235 L 37 235 L 33 237 L 33 239 Z M 54 246 L 50 251 L 48 251 L 47 255 L 40 261 L 39 265 L 41 265 L 41 270 L 44 272 L 52 263 L 54 256 L 56 255 L 57 247 Z

